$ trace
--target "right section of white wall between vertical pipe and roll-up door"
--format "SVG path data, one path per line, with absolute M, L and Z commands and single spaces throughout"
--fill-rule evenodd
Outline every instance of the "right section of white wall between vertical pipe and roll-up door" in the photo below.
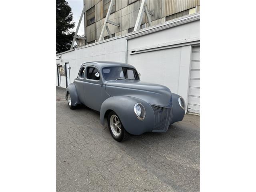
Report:
M 192 45 L 198 43 L 200 20 L 128 38 L 127 61 L 142 74 L 141 80 L 167 86 L 187 105 Z

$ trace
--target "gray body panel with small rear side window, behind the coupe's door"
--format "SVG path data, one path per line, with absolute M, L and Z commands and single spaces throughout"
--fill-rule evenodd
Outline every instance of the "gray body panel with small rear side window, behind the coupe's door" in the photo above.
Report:
M 85 66 L 82 66 L 79 70 L 78 77 L 74 80 L 74 84 L 76 86 L 76 92 L 78 94 L 78 98 L 82 104 L 85 105 L 85 97 L 84 97 L 84 84 L 85 82 Z

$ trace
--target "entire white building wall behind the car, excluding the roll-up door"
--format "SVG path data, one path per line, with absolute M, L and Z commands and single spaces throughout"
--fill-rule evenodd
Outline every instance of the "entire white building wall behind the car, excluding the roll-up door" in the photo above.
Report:
M 136 67 L 146 82 L 162 84 L 182 96 L 188 104 L 192 46 L 200 44 L 200 15 L 132 32 L 62 54 L 70 64 L 70 82 L 83 62 L 117 61 Z M 187 21 L 186 21 L 187 20 Z M 127 55 L 126 55 L 127 46 Z M 187 107 L 186 107 L 187 108 Z

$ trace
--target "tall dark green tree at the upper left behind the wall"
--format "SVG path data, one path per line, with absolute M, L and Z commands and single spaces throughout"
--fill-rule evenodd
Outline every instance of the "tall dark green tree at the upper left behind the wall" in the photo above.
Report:
M 66 0 L 56 0 L 56 53 L 70 49 L 75 32 L 73 13 Z

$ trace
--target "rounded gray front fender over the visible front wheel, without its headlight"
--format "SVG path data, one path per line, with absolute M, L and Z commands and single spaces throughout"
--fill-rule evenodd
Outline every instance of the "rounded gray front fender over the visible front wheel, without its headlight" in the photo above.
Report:
M 141 103 L 145 110 L 144 120 L 139 120 L 134 112 L 134 105 Z M 113 96 L 106 99 L 100 108 L 100 122 L 104 125 L 106 112 L 113 110 L 120 118 L 124 129 L 133 135 L 140 135 L 144 132 L 152 132 L 154 128 L 154 112 L 150 104 L 139 98 L 130 96 Z

